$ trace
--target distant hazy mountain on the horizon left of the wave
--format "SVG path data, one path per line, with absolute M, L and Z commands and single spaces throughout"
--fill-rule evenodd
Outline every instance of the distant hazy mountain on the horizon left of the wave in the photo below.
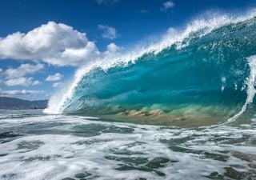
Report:
M 0 109 L 22 110 L 46 108 L 48 100 L 28 101 L 20 98 L 0 97 Z

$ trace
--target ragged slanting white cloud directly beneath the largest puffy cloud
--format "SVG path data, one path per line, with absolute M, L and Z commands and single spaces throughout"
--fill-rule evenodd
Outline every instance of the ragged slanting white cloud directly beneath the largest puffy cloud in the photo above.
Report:
M 43 67 L 44 67 L 43 64 L 37 64 L 37 65 L 22 64 L 17 69 L 13 69 L 13 68 L 7 69 L 4 72 L 4 75 L 6 75 L 6 78 L 19 78 L 19 77 L 25 76 L 26 74 L 34 74 L 39 70 L 42 70 Z

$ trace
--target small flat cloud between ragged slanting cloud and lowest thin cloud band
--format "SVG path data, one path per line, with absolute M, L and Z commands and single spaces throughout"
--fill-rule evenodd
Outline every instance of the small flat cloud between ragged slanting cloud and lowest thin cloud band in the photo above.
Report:
M 36 86 L 41 84 L 38 80 L 34 80 L 34 78 L 26 78 L 26 77 L 19 77 L 19 78 L 10 78 L 4 82 L 6 86 Z

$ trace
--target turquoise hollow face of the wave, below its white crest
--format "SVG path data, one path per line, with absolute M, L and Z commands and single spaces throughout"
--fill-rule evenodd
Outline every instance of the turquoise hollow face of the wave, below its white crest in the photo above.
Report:
M 190 34 L 135 63 L 86 74 L 65 104 L 72 114 L 140 122 L 212 124 L 242 109 L 256 54 L 256 18 Z

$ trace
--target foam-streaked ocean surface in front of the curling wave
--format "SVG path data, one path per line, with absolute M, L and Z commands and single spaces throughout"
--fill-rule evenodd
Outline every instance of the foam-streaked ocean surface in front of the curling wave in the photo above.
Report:
M 1 110 L 0 179 L 256 179 L 256 117 L 182 128 Z

